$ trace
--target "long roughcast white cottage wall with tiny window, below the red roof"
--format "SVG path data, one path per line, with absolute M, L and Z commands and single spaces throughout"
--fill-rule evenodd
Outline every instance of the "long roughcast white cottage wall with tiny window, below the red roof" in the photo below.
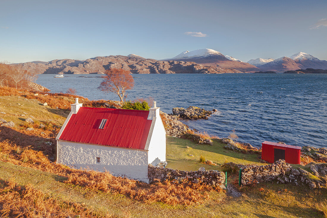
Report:
M 57 162 L 148 182 L 147 151 L 58 140 Z M 100 157 L 100 164 L 96 163 Z

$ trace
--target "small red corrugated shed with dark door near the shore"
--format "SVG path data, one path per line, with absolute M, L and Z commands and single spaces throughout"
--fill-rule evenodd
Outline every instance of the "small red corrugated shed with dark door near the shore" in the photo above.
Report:
M 262 142 L 261 159 L 273 163 L 276 160 L 282 159 L 286 163 L 300 164 L 301 162 L 301 147 L 294 145 L 285 145 L 270 141 Z

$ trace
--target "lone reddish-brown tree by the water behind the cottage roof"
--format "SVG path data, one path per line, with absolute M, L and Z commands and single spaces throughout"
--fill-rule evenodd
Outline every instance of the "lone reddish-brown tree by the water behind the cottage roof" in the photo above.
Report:
M 109 69 L 106 70 L 106 76 L 103 76 L 102 78 L 104 80 L 101 82 L 98 89 L 105 92 L 116 93 L 119 96 L 120 101 L 125 100 L 124 96 L 126 90 L 132 89 L 134 86 L 134 79 L 128 70 Z

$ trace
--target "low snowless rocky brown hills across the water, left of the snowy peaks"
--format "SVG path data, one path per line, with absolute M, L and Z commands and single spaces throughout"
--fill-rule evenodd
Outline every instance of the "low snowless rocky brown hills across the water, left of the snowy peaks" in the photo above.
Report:
M 218 66 L 203 66 L 188 61 L 158 61 L 137 55 L 106 56 L 89 58 L 83 61 L 62 59 L 47 63 L 20 63 L 24 70 L 37 74 L 101 74 L 109 68 L 122 68 L 131 73 L 242 73 L 235 69 Z

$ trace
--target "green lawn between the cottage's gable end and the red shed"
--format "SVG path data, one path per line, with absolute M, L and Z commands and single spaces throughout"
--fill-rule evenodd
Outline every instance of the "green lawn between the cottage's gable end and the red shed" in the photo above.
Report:
M 213 145 L 195 144 L 194 142 L 176 138 L 166 137 L 166 161 L 167 167 L 186 171 L 197 171 L 200 167 L 207 170 L 219 170 L 220 165 L 227 162 L 239 164 L 258 164 L 259 154 L 242 154 L 239 152 L 224 149 L 225 144 L 213 140 Z M 189 147 L 189 148 L 187 148 Z M 193 154 L 193 156 L 189 156 Z M 199 157 L 204 156 L 206 160 L 217 163 L 218 166 L 199 163 Z

